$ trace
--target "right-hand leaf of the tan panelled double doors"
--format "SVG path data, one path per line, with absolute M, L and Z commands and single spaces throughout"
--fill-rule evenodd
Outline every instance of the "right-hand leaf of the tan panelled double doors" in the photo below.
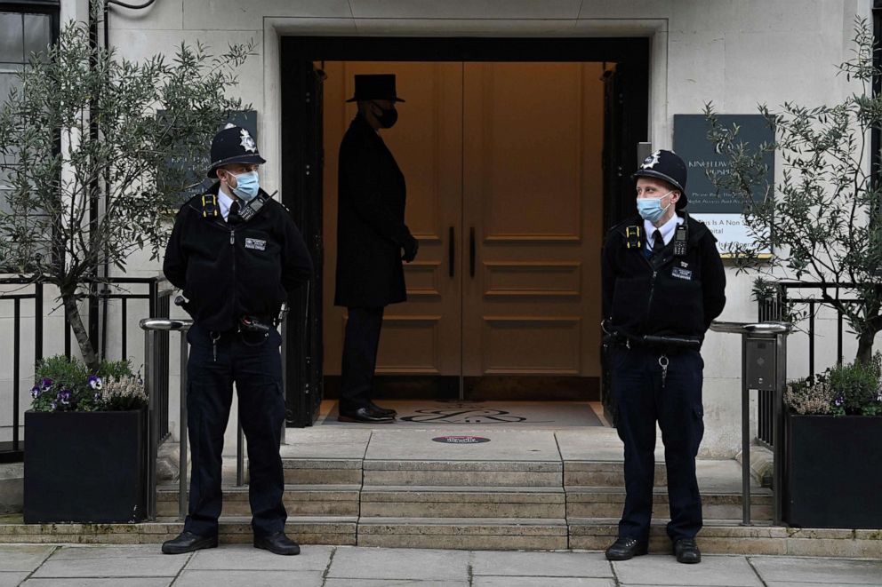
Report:
M 467 377 L 599 376 L 601 74 L 595 63 L 464 66 Z

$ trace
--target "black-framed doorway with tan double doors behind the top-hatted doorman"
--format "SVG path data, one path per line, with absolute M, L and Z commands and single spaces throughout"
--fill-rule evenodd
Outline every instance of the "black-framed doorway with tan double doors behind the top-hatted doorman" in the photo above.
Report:
M 333 39 L 283 40 L 283 71 L 293 73 L 283 99 L 309 96 L 291 108 L 298 138 L 285 137 L 283 121 L 283 200 L 320 259 L 305 321 L 289 323 L 289 350 L 307 350 L 306 361 L 288 355 L 293 424 L 311 423 L 340 372 L 336 156 L 360 73 L 395 73 L 407 100 L 382 137 L 404 171 L 406 221 L 421 243 L 405 265 L 408 302 L 385 315 L 378 396 L 598 399 L 599 256 L 609 218 L 632 199 L 622 170 L 645 140 L 647 103 L 645 92 L 629 102 L 625 91 L 646 89 L 648 44 L 439 41 L 353 40 L 359 52 Z M 313 164 L 310 145 L 321 145 Z M 289 172 L 298 168 L 299 177 Z M 289 186 L 306 197 L 292 202 Z

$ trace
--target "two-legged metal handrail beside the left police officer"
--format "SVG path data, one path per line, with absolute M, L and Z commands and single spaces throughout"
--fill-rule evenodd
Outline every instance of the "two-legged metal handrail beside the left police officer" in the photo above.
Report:
M 156 520 L 156 456 L 159 449 L 159 413 L 156 407 L 156 393 L 151 365 L 155 353 L 155 333 L 157 330 L 177 330 L 180 332 L 180 456 L 178 457 L 178 515 L 183 520 L 187 517 L 187 337 L 186 332 L 193 325 L 192 320 L 174 320 L 168 318 L 144 318 L 139 322 L 144 330 L 144 387 L 149 397 L 148 425 L 148 520 Z

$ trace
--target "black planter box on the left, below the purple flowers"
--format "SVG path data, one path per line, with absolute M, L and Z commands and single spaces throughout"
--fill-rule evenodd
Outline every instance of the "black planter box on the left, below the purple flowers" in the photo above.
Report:
M 146 439 L 146 409 L 25 412 L 25 523 L 144 520 Z

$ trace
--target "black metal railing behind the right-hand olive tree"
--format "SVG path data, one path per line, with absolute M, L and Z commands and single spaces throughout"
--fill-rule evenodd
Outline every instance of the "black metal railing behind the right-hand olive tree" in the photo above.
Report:
M 845 319 L 840 309 L 825 301 L 822 297 L 813 296 L 812 294 L 803 293 L 801 290 L 807 291 L 824 291 L 832 290 L 832 297 L 839 302 L 846 304 L 861 304 L 861 300 L 857 298 L 840 297 L 843 291 L 854 290 L 854 283 L 834 283 L 834 282 L 776 282 L 777 295 L 773 298 L 759 300 L 759 321 L 792 321 L 798 313 L 798 317 L 805 316 L 808 322 L 807 329 L 800 324 L 794 324 L 794 334 L 798 331 L 803 332 L 808 337 L 808 357 L 806 371 L 800 369 L 798 374 L 789 374 L 788 378 L 807 377 L 817 373 L 815 368 L 815 350 L 816 338 L 818 337 L 815 318 L 818 312 L 823 308 L 829 308 L 836 312 L 836 362 L 841 363 L 843 359 L 843 340 L 845 338 Z M 805 311 L 805 312 L 803 312 Z M 790 335 L 791 337 L 793 335 Z M 793 345 L 788 345 L 793 348 Z M 826 367 L 825 367 L 826 368 Z M 772 423 L 774 421 L 774 392 L 759 392 L 758 396 L 758 429 L 757 439 L 761 444 L 771 447 L 773 444 Z

